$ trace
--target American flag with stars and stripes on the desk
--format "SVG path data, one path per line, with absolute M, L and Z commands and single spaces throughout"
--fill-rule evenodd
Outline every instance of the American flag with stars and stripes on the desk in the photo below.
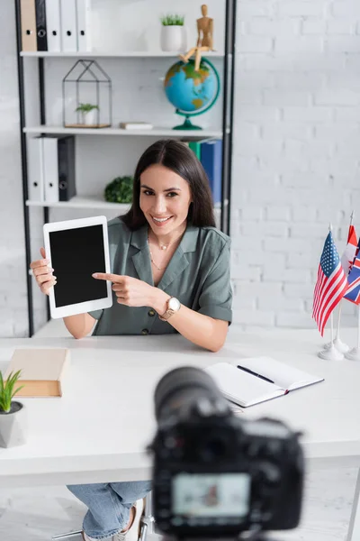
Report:
M 321 254 L 312 310 L 312 317 L 318 325 L 321 336 L 324 335 L 329 315 L 346 291 L 347 276 L 330 231 Z

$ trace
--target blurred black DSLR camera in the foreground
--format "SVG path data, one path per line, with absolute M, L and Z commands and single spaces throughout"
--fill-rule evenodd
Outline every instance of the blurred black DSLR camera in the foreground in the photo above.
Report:
M 167 372 L 155 391 L 153 513 L 168 537 L 264 539 L 298 526 L 304 459 L 299 434 L 234 415 L 211 376 Z M 244 535 L 244 536 L 243 536 Z

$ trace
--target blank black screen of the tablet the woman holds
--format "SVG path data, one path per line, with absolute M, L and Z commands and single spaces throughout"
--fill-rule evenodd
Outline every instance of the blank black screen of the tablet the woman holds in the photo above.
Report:
M 57 284 L 56 307 L 107 297 L 106 281 L 94 272 L 105 272 L 103 225 L 90 225 L 49 233 L 51 263 Z

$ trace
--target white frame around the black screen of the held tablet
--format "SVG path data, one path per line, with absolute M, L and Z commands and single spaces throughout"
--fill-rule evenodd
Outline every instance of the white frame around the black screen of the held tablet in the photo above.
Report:
M 77 229 L 80 227 L 89 227 L 91 225 L 103 225 L 103 251 L 105 258 L 105 272 L 110 272 L 110 254 L 109 254 L 109 239 L 107 232 L 106 216 L 92 216 L 89 218 L 77 218 L 76 220 L 66 220 L 63 222 L 52 222 L 43 225 L 44 243 L 46 259 L 49 260 L 49 268 L 52 268 L 51 249 L 49 234 L 53 231 L 66 231 L 68 229 Z M 56 269 L 54 270 L 56 276 Z M 95 280 L 95 279 L 94 279 Z M 56 287 L 56 286 L 55 286 Z M 53 319 L 58 317 L 75 316 L 76 314 L 84 314 L 93 310 L 112 307 L 112 282 L 106 280 L 106 297 L 96 298 L 95 300 L 86 300 L 72 305 L 56 307 L 54 286 L 49 289 L 49 306 L 50 314 Z

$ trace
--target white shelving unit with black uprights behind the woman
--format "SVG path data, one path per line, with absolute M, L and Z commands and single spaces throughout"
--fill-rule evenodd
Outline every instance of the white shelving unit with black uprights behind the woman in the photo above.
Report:
M 122 215 L 130 205 L 108 203 L 103 189 L 112 179 L 131 175 L 139 156 L 149 144 L 160 138 L 223 140 L 223 199 L 214 207 L 217 224 L 229 229 L 229 182 L 231 172 L 233 64 L 235 47 L 236 0 L 208 0 L 209 15 L 215 22 L 215 47 L 206 52 L 220 73 L 221 91 L 211 113 L 199 117 L 202 130 L 174 130 L 184 117 L 175 115 L 162 96 L 166 70 L 179 60 L 178 52 L 159 50 L 159 17 L 169 11 L 184 12 L 187 22 L 187 47 L 196 43 L 196 19 L 201 16 L 200 4 L 184 0 L 94 0 L 92 9 L 91 51 L 23 51 L 21 50 L 20 0 L 15 0 L 18 36 L 18 76 L 21 103 L 23 191 L 28 192 L 27 141 L 40 134 L 76 136 L 76 197 L 69 201 L 49 203 L 23 197 L 26 265 L 39 251 L 38 240 L 44 222 L 71 219 L 79 215 Z M 109 11 L 110 10 L 110 11 Z M 139 13 L 140 10 L 140 13 Z M 185 23 L 186 24 L 186 23 Z M 93 40 L 94 38 L 94 40 Z M 112 119 L 108 128 L 66 128 L 62 125 L 62 79 L 76 60 L 94 59 L 112 80 Z M 154 124 L 151 130 L 124 130 L 120 122 L 145 121 Z M 210 127 L 209 127 L 210 126 Z M 120 139 L 117 139 L 120 138 Z M 40 209 L 42 212 L 40 212 Z M 51 212 L 50 212 L 51 211 Z M 42 215 L 42 216 L 41 216 Z M 50 216 L 51 215 L 51 216 Z M 63 218 L 65 216 L 65 218 Z M 32 257 L 32 259 L 33 259 Z M 40 294 L 28 275 L 29 328 L 34 332 L 33 297 Z M 41 301 L 42 302 L 42 298 Z M 38 303 L 39 304 L 39 303 Z M 42 314 L 41 314 L 42 318 Z M 42 323 L 42 319 L 41 319 Z M 51 325 L 51 324 L 49 324 Z

